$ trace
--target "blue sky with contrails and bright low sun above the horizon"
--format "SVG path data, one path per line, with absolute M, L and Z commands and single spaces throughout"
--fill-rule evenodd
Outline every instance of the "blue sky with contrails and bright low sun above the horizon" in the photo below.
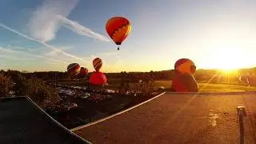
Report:
M 120 50 L 106 34 L 114 16 L 132 28 Z M 0 69 L 65 71 L 76 62 L 104 72 L 256 66 L 256 1 L 2 0 Z

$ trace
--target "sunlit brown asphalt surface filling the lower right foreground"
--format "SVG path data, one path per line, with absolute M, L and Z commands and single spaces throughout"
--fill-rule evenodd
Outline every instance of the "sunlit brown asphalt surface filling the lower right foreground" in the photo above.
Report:
M 256 143 L 256 94 L 164 94 L 124 114 L 75 130 L 92 143 Z

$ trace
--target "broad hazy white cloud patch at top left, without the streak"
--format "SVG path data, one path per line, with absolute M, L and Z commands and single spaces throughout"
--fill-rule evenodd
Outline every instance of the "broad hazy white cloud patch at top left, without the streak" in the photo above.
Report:
M 48 42 L 55 38 L 61 20 L 55 14 L 66 18 L 77 5 L 78 0 L 46 0 L 30 18 L 30 34 L 32 38 Z

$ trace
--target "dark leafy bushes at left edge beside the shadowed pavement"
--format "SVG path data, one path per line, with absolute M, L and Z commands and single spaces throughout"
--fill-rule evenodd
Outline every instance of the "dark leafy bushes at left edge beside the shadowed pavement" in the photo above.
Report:
M 42 109 L 54 109 L 61 101 L 58 91 L 34 74 L 17 70 L 0 71 L 0 97 L 28 96 Z

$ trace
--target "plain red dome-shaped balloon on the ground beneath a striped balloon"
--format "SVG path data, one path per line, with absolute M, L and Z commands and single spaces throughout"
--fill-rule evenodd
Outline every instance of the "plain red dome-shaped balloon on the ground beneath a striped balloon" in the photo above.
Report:
M 95 71 L 90 75 L 90 84 L 93 85 L 103 85 L 106 83 L 106 75 L 102 72 Z

